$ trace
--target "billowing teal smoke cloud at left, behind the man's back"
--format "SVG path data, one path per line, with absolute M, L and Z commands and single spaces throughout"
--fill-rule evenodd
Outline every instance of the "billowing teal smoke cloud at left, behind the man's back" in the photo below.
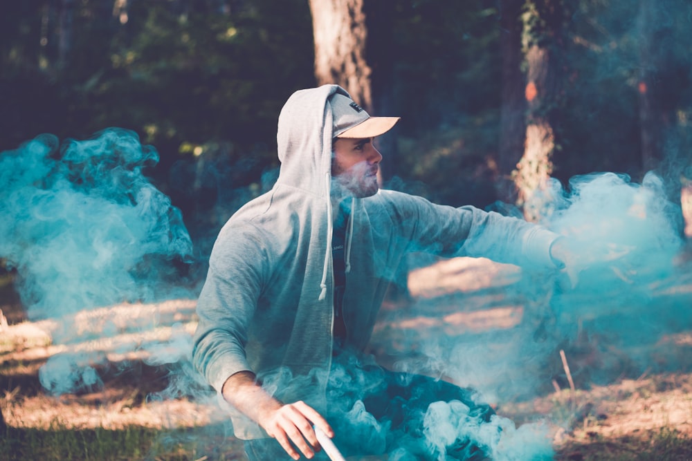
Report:
M 125 129 L 60 142 L 39 135 L 0 154 L 0 258 L 31 319 L 165 297 L 191 254 L 179 209 L 143 170 L 152 147 Z

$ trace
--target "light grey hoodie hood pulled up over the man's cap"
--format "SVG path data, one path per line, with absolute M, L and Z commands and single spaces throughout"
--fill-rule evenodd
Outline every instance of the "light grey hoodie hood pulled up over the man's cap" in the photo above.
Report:
M 334 117 L 329 97 L 340 93 L 338 85 L 322 85 L 296 91 L 279 114 L 276 133 L 281 167 L 277 184 L 297 187 L 317 196 L 328 194 L 331 178 L 331 140 Z

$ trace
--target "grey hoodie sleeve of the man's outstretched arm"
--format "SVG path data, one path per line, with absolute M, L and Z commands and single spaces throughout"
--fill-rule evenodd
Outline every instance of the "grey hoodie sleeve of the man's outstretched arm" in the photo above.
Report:
M 394 194 L 396 218 L 414 252 L 438 256 L 486 257 L 522 267 L 556 268 L 550 247 L 560 236 L 525 220 L 475 207 L 435 205 Z

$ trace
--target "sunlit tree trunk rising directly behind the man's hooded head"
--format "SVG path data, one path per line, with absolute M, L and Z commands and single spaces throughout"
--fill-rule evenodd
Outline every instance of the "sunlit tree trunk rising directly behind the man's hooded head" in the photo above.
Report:
M 318 84 L 339 84 L 372 111 L 370 66 L 365 62 L 363 0 L 310 0 Z

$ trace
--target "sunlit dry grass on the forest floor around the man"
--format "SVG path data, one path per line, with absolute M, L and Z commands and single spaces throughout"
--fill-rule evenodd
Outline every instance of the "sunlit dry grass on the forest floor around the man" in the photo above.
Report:
M 417 306 L 385 306 L 376 326 L 374 351 L 386 363 L 421 352 L 404 338 L 407 335 L 513 332 L 525 321 L 525 306 L 502 293 L 517 280 L 513 267 L 486 260 L 459 259 L 413 272 L 410 286 Z M 659 292 L 684 295 L 690 286 L 664 286 Z M 467 307 L 464 310 L 459 310 L 459 297 Z M 169 344 L 172 355 L 176 354 L 176 338 L 194 330 L 194 305 L 194 300 L 122 304 L 37 322 L 22 321 L 16 304 L 15 308 L 0 306 L 10 319 L 0 321 L 0 409 L 9 426 L 6 437 L 13 440 L 11 444 L 5 440 L 5 446 L 19 450 L 5 452 L 0 459 L 31 459 L 17 447 L 47 440 L 79 448 L 60 455 L 33 452 L 33 459 L 125 459 L 75 454 L 86 446 L 84 440 L 93 443 L 98 438 L 115 442 L 116 448 L 104 445 L 105 450 L 111 446 L 117 452 L 118 447 L 129 446 L 129 459 L 157 459 L 151 456 L 152 450 L 161 452 L 161 460 L 243 459 L 242 444 L 224 433 L 226 418 L 214 401 L 190 395 L 151 398 L 167 388 L 171 367 L 176 366 L 175 360 L 152 364 L 152 353 L 162 353 L 152 350 Z M 68 332 L 71 341 L 61 341 Z M 662 337 L 648 353 L 692 363 L 692 358 L 683 357 L 691 338 L 688 331 Z M 565 349 L 574 370 L 603 363 L 603 357 L 594 357 L 597 340 L 586 340 L 592 348 Z M 508 344 L 498 344 L 499 353 L 511 347 Z M 86 354 L 102 382 L 76 393 L 48 395 L 39 383 L 39 368 L 51 357 L 70 352 Z M 618 352 L 599 353 L 614 360 Z M 559 357 L 554 361 L 553 375 L 562 372 Z M 574 389 L 558 379 L 534 397 L 498 402 L 497 411 L 518 424 L 549 422 L 556 459 L 690 460 L 691 391 L 692 374 L 685 370 L 635 378 L 623 374 L 603 386 L 576 379 Z

